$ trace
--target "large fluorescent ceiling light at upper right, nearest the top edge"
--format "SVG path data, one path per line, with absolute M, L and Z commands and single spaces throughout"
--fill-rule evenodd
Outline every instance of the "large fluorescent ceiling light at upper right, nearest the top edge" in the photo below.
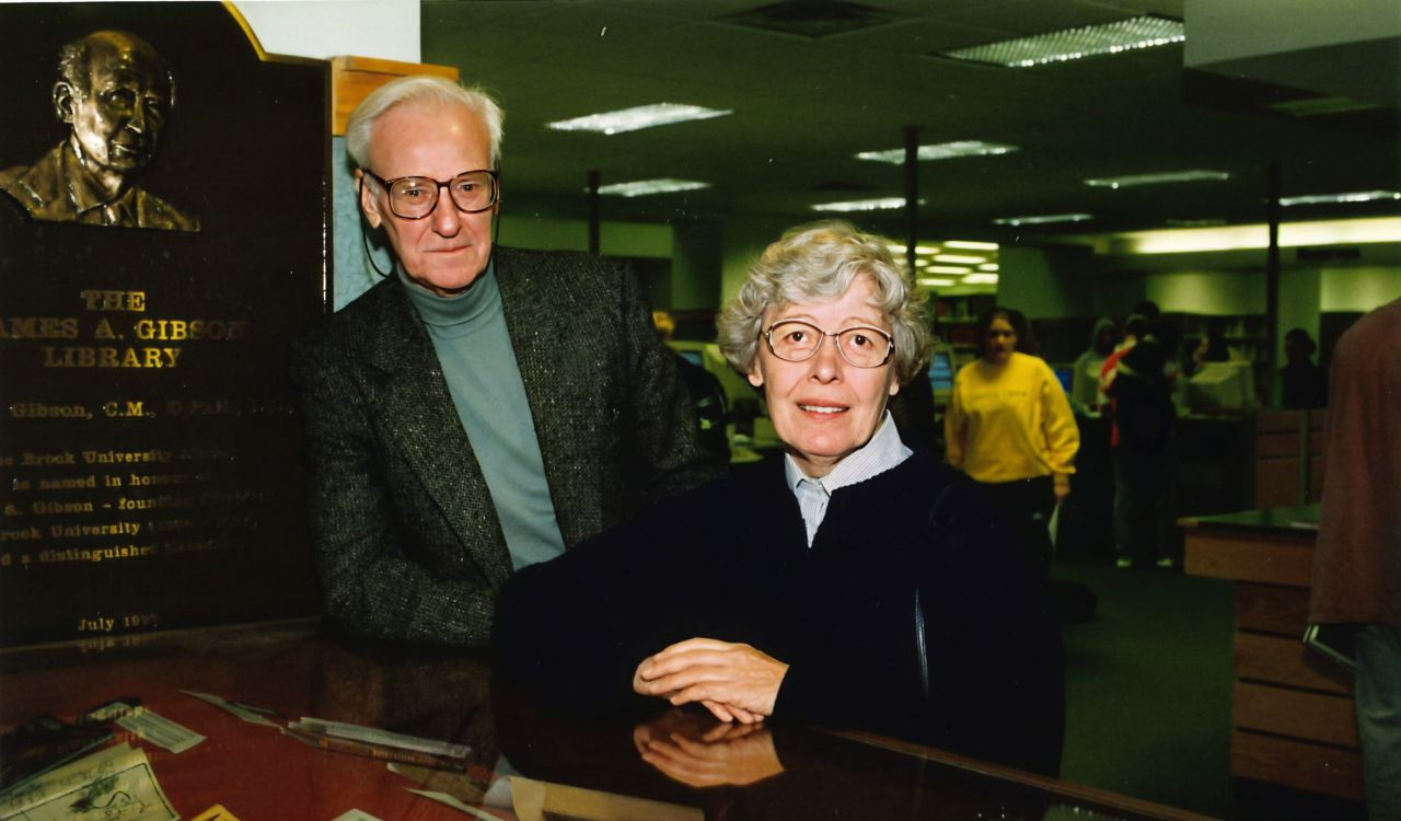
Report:
M 1048 63 L 1079 60 L 1080 57 L 1096 55 L 1117 55 L 1133 49 L 1166 46 L 1168 43 L 1180 43 L 1185 39 L 1187 29 L 1178 20 L 1131 17 L 1103 25 L 1066 28 L 982 46 L 934 53 L 972 63 L 1028 69 Z

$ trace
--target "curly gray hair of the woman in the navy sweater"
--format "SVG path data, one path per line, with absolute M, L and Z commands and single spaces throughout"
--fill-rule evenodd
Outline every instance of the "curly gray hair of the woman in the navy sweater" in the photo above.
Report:
M 764 249 L 740 293 L 720 311 L 716 325 L 724 359 L 741 374 L 750 373 L 765 310 L 835 300 L 857 276 L 867 276 L 876 286 L 871 304 L 885 315 L 895 338 L 895 377 L 901 384 L 915 378 L 929 359 L 929 319 L 923 293 L 891 255 L 890 244 L 841 220 L 789 228 Z

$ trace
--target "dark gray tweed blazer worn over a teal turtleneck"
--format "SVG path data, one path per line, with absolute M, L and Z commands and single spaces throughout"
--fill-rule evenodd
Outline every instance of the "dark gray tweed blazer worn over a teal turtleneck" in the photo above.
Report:
M 719 475 L 630 275 L 581 254 L 493 262 L 565 545 Z M 293 354 L 324 615 L 364 637 L 479 646 L 511 559 L 403 287 L 373 287 Z

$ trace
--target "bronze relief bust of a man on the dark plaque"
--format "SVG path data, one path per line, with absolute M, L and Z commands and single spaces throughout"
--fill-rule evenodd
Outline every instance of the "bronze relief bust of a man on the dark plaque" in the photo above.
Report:
M 0 171 L 0 191 L 36 220 L 198 231 L 134 184 L 174 102 L 170 70 L 142 38 L 98 31 L 63 46 L 53 109 L 69 137 L 28 168 Z

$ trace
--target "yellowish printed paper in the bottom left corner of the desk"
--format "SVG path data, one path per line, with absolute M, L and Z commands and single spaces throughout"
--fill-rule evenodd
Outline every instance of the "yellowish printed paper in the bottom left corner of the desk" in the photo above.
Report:
M 146 754 L 130 744 L 80 758 L 0 799 L 0 821 L 69 821 L 83 817 L 123 821 L 179 818 L 156 783 Z

